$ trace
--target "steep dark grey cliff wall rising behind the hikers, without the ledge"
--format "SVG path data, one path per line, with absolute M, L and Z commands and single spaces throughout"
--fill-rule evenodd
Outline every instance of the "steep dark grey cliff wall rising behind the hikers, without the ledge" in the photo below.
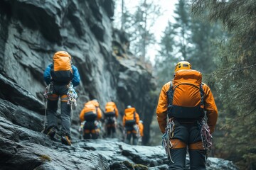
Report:
M 123 33 L 112 29 L 113 13 L 112 0 L 1 1 L 1 98 L 43 114 L 43 71 L 56 51 L 66 50 L 81 76 L 73 125 L 79 123 L 83 103 L 94 98 L 102 109 L 107 101 L 115 101 L 119 118 L 125 106 L 133 105 L 144 120 L 146 144 L 154 113 L 149 96 L 153 79 L 144 64 L 128 54 L 122 57 L 126 50 L 121 55 L 113 52 L 112 42 L 124 49 L 127 41 Z M 23 93 L 37 103 L 30 103 Z

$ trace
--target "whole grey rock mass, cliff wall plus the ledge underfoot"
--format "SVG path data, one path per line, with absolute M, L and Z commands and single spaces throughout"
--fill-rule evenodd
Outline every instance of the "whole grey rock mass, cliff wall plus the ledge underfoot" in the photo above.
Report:
M 0 169 L 167 169 L 161 147 L 79 140 L 78 115 L 93 98 L 101 108 L 115 101 L 121 115 L 134 105 L 145 123 L 144 144 L 149 140 L 154 79 L 127 52 L 125 34 L 112 29 L 113 12 L 112 0 L 0 1 Z M 81 76 L 70 147 L 41 132 L 43 71 L 58 50 L 72 55 Z M 209 164 L 235 169 L 220 159 Z

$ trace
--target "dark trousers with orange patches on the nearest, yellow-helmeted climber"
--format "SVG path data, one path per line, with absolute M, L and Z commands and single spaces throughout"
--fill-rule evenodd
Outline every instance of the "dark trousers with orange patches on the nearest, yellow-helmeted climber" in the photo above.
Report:
M 181 123 L 174 120 L 174 137 L 171 138 L 171 159 L 169 169 L 185 169 L 186 152 L 188 147 L 190 169 L 206 169 L 206 150 L 201 142 L 201 132 L 196 122 Z M 171 160 L 174 162 L 171 162 Z

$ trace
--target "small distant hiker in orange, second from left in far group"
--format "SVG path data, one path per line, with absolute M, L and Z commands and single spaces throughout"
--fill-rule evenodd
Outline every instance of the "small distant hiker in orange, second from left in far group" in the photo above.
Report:
M 118 109 L 114 102 L 110 101 L 105 106 L 105 123 L 107 137 L 114 137 L 117 126 Z

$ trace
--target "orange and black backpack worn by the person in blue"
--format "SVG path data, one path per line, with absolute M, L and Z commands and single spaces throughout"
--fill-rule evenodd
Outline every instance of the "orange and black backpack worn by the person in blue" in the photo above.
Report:
M 73 79 L 71 56 L 68 52 L 58 51 L 53 55 L 53 68 L 50 75 L 56 82 L 69 82 Z

